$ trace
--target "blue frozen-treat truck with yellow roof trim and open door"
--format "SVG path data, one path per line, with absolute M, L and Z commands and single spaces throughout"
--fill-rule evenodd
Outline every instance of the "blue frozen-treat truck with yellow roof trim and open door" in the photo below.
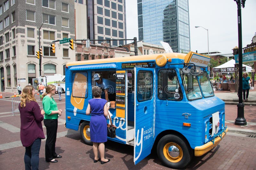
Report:
M 116 82 L 110 107 L 117 127 L 108 140 L 134 146 L 137 164 L 156 150 L 161 162 L 184 168 L 193 156 L 218 145 L 225 127 L 225 103 L 214 96 L 207 74 L 210 57 L 198 53 L 161 53 L 66 64 L 66 128 L 90 141 L 93 75 Z M 104 98 L 104 95 L 102 95 Z M 109 123 L 109 120 L 107 120 Z

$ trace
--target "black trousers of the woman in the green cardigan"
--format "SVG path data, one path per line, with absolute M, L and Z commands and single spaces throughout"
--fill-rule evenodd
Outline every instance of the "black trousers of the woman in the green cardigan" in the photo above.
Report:
M 45 160 L 50 161 L 58 156 L 55 152 L 58 119 L 44 119 L 44 126 L 46 127 L 47 135 L 45 141 Z

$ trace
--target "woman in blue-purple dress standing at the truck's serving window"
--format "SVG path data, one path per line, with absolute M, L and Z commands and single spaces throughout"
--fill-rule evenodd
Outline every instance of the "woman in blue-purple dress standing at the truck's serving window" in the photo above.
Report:
M 93 99 L 89 100 L 86 115 L 91 114 L 90 121 L 90 137 L 93 142 L 92 150 L 94 153 L 93 162 L 96 163 L 100 160 L 101 164 L 107 163 L 110 159 L 105 159 L 105 144 L 107 142 L 107 119 L 108 109 L 107 100 L 101 99 L 102 90 L 98 86 L 92 88 Z M 98 150 L 100 158 L 98 157 Z

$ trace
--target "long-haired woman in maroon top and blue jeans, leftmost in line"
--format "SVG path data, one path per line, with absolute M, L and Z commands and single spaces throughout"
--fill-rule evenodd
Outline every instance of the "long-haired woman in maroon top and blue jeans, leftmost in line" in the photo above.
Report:
M 38 169 L 41 139 L 45 138 L 42 127 L 44 111 L 41 113 L 40 107 L 36 103 L 33 86 L 28 85 L 22 90 L 20 101 L 20 140 L 26 147 L 25 169 Z

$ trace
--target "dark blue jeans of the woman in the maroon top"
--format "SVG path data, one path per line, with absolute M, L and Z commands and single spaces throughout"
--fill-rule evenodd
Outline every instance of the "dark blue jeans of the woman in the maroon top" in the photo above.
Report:
M 38 169 L 40 147 L 41 147 L 41 138 L 37 138 L 32 145 L 26 147 L 26 151 L 24 155 L 26 170 Z

